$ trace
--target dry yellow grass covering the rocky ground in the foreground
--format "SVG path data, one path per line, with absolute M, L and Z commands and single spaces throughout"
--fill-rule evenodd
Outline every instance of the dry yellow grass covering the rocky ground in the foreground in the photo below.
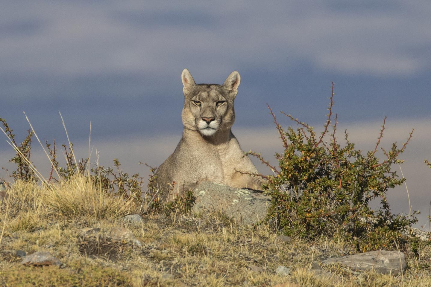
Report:
M 431 286 L 431 247 L 425 244 L 415 253 L 406 250 L 409 269 L 402 276 L 325 277 L 310 270 L 311 262 L 355 252 L 341 235 L 285 242 L 266 225 L 238 226 L 220 212 L 147 214 L 133 225 L 119 219 L 133 210 L 131 203 L 82 177 L 42 187 L 17 182 L 8 193 L 0 204 L 2 286 Z M 112 242 L 109 229 L 119 225 L 142 246 Z M 87 227 L 101 230 L 84 235 Z M 24 267 L 14 250 L 49 251 L 66 267 Z M 290 275 L 275 274 L 279 265 L 290 268 Z

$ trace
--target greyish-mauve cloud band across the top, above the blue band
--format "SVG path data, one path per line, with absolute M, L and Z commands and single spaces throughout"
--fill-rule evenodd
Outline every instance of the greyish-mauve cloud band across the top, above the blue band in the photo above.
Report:
M 309 59 L 322 70 L 377 76 L 429 68 L 431 4 L 366 3 L 14 1 L 0 12 L 8 33 L 0 38 L 2 74 L 166 75 L 168 67 L 181 70 L 187 62 L 212 67 L 212 78 L 239 59 L 253 65 Z

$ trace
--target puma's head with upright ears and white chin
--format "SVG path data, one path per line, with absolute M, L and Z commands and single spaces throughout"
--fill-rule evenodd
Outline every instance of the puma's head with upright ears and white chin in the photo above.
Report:
M 203 136 L 230 130 L 235 120 L 234 99 L 240 80 L 240 74 L 233 71 L 222 85 L 196 84 L 190 72 L 184 69 L 181 73 L 184 127 L 197 130 Z

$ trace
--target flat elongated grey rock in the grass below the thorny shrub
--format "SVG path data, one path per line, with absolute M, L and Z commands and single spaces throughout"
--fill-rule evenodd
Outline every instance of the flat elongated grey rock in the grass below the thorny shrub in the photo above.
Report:
M 374 270 L 381 274 L 402 274 L 407 267 L 406 256 L 399 251 L 369 251 L 323 260 L 321 265 L 341 263 L 356 271 Z

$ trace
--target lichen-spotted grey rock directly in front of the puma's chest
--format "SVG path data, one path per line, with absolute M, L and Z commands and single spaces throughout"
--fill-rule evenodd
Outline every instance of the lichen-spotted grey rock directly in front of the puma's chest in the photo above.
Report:
M 232 188 L 212 182 L 202 182 L 193 191 L 194 211 L 222 210 L 241 224 L 256 224 L 264 219 L 270 198 L 251 189 Z

